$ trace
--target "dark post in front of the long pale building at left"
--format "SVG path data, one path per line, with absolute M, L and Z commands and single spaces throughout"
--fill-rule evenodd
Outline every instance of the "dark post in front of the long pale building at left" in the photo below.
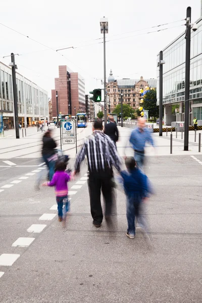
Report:
M 20 138 L 19 133 L 19 123 L 18 123 L 18 94 L 17 94 L 17 84 L 16 84 L 16 64 L 15 55 L 11 53 L 12 66 L 12 79 L 13 79 L 13 98 L 14 98 L 14 115 L 15 115 L 15 127 L 16 127 L 16 139 Z

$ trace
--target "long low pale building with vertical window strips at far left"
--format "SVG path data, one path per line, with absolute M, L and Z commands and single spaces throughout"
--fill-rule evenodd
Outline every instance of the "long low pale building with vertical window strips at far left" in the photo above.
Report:
M 37 86 L 19 73 L 16 73 L 19 122 L 31 125 L 48 118 L 47 91 Z M 12 70 L 0 62 L 0 115 L 4 125 L 14 127 L 14 103 Z

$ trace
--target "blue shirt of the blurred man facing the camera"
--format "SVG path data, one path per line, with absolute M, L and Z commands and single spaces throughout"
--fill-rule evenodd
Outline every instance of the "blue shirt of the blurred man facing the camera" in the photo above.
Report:
M 146 142 L 154 146 L 153 137 L 147 128 L 140 129 L 137 127 L 134 129 L 130 135 L 129 141 L 132 144 L 133 149 L 138 151 L 144 151 Z

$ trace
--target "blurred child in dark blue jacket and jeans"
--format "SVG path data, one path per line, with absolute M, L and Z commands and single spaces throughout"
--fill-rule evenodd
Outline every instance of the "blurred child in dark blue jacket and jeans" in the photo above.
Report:
M 133 157 L 126 158 L 125 165 L 127 171 L 122 171 L 124 190 L 127 196 L 126 216 L 128 221 L 128 230 L 126 235 L 130 239 L 135 237 L 135 217 L 138 224 L 146 231 L 146 223 L 140 214 L 142 200 L 145 199 L 151 189 L 148 184 L 148 178 L 137 167 Z

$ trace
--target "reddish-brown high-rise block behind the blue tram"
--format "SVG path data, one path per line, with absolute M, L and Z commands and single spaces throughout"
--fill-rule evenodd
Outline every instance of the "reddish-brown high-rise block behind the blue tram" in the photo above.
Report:
M 85 112 L 85 82 L 82 76 L 72 72 L 66 65 L 59 66 L 59 77 L 52 89 L 53 117 L 57 117 L 56 91 L 58 91 L 59 113 L 62 115 Z

